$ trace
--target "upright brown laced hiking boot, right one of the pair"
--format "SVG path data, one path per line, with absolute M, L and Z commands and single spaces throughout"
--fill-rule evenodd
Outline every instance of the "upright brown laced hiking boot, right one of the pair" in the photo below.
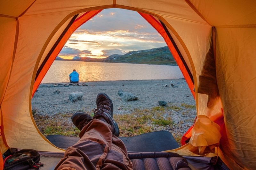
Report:
M 97 108 L 95 108 L 93 119 L 100 119 L 112 126 L 112 134 L 119 136 L 119 128 L 113 119 L 113 103 L 105 93 L 99 93 L 96 98 Z

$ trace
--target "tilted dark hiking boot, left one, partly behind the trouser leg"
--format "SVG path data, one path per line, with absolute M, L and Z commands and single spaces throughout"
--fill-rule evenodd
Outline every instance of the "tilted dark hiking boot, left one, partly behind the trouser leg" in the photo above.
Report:
M 72 122 L 77 127 L 77 129 L 82 130 L 85 125 L 87 125 L 92 120 L 92 116 L 84 112 L 76 112 L 71 117 Z

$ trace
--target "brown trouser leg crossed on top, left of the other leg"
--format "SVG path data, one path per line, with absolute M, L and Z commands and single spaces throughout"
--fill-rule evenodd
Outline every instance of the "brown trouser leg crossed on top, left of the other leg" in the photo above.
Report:
M 79 141 L 66 150 L 64 158 L 60 160 L 55 169 L 70 167 L 76 170 L 91 170 L 102 165 L 111 147 L 110 125 L 93 119 L 83 128 L 79 136 L 81 136 Z

